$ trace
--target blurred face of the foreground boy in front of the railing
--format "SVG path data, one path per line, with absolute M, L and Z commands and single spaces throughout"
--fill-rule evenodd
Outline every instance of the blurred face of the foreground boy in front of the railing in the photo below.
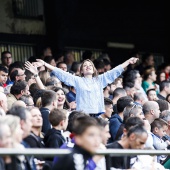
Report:
M 75 142 L 86 151 L 94 153 L 101 143 L 100 129 L 96 126 L 88 127 L 82 135 L 75 136 Z

